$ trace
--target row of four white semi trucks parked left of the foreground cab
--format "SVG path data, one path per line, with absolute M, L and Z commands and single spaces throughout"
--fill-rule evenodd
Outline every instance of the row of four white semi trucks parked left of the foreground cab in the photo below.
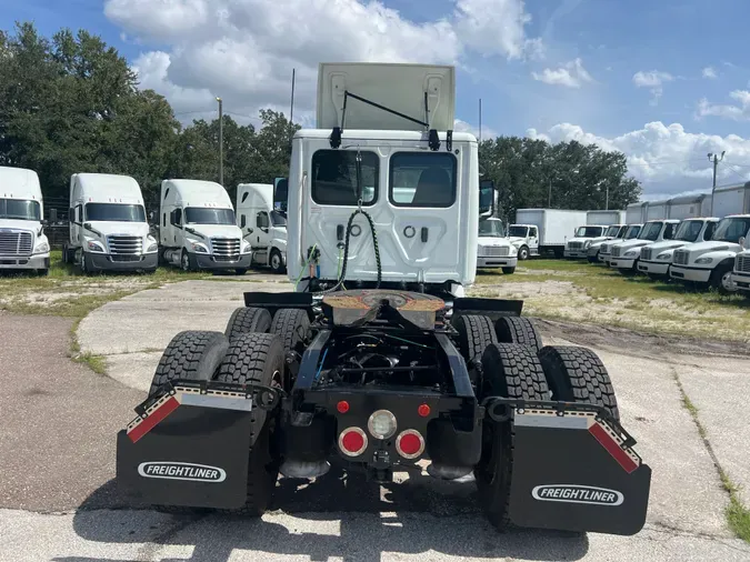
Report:
M 37 173 L 0 167 L 0 268 L 47 273 L 50 244 Z M 281 272 L 287 221 L 273 193 L 273 184 L 238 185 L 236 213 L 218 183 L 164 180 L 159 215 L 152 215 L 153 235 L 133 178 L 76 173 L 70 179 L 70 233 L 62 260 L 83 272 L 153 272 L 159 264 L 238 273 L 262 265 Z

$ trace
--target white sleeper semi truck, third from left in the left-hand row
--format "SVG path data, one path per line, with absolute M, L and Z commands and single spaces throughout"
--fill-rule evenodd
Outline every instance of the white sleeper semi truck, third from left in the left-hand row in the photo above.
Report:
M 234 219 L 227 190 L 200 180 L 161 182 L 161 257 L 184 271 L 234 270 L 244 274 L 252 260 L 250 242 Z

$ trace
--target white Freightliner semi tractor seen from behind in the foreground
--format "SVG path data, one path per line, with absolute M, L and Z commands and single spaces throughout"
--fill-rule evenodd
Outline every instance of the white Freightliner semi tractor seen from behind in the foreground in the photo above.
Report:
M 292 140 L 297 290 L 247 292 L 224 333 L 173 338 L 118 433 L 126 496 L 260 515 L 279 474 L 378 484 L 427 464 L 473 474 L 499 529 L 640 531 L 651 470 L 601 360 L 543 345 L 521 301 L 463 295 L 493 194 L 477 139 L 450 129 L 453 77 L 320 66 L 317 128 Z

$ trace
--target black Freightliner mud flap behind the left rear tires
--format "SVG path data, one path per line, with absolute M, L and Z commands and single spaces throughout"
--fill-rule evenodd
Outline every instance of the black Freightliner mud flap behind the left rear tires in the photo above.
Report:
M 149 504 L 241 508 L 252 408 L 243 392 L 171 389 L 118 433 L 118 488 Z

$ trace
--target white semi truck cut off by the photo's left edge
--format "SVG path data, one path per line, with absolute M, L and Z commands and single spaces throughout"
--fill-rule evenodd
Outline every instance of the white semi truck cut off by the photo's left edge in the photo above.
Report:
M 49 272 L 50 244 L 43 218 L 37 172 L 0 167 L 0 270 Z

